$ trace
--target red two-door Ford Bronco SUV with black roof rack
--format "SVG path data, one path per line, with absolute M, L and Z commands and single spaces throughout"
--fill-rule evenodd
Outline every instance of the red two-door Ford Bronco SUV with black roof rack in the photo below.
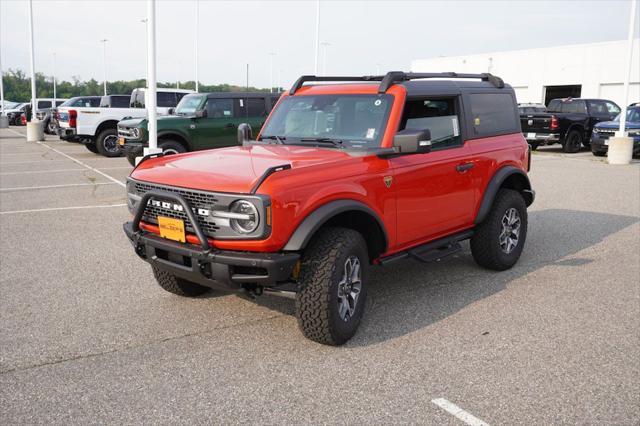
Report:
M 500 271 L 524 247 L 530 152 L 514 91 L 493 75 L 303 76 L 255 140 L 248 125 L 238 139 L 145 157 L 128 179 L 124 231 L 171 293 L 295 292 L 304 335 L 339 345 L 373 265 L 470 239 Z

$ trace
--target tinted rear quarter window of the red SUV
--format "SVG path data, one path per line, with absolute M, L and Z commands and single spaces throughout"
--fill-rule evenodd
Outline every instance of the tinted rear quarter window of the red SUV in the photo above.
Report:
M 519 132 L 513 97 L 509 93 L 476 93 L 469 95 L 473 131 L 476 136 Z

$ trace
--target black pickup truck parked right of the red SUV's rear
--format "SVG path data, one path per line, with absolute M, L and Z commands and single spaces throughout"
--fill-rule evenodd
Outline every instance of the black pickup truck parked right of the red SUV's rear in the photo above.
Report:
M 605 99 L 553 99 L 547 112 L 522 114 L 520 124 L 532 149 L 560 143 L 564 152 L 573 153 L 589 146 L 593 126 L 619 113 L 620 107 Z

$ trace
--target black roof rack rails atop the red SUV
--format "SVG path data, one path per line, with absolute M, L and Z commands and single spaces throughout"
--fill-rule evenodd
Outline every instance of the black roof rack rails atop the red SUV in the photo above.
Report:
M 482 81 L 488 81 L 493 86 L 502 89 L 504 81 L 493 74 L 459 74 L 456 72 L 433 72 L 433 73 L 406 73 L 403 71 L 389 71 L 386 75 L 365 75 L 360 77 L 317 77 L 315 75 L 303 75 L 300 77 L 289 90 L 289 94 L 295 94 L 308 81 L 379 81 L 378 93 L 386 93 L 394 83 L 409 80 L 418 80 L 424 78 L 475 78 Z

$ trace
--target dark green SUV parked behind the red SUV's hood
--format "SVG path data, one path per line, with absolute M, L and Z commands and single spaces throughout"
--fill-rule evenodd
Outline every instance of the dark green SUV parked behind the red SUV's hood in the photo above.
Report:
M 182 98 L 172 115 L 158 117 L 158 147 L 165 154 L 222 148 L 237 144 L 237 129 L 249 123 L 260 129 L 280 94 L 193 93 Z M 129 163 L 148 144 L 147 119 L 118 123 L 118 143 Z

